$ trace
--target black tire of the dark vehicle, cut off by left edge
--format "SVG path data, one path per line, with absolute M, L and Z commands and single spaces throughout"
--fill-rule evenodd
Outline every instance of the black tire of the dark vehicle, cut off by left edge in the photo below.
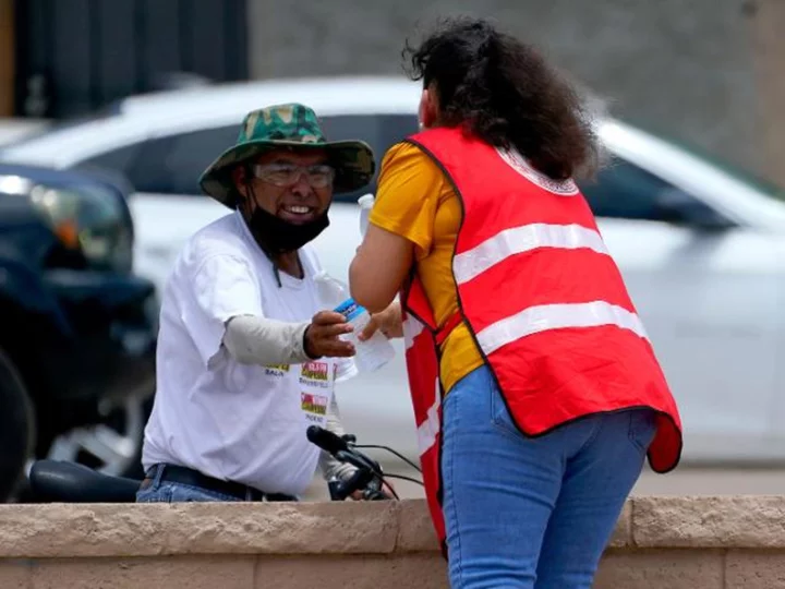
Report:
M 24 481 L 35 447 L 35 413 L 11 359 L 0 349 L 0 503 L 12 500 Z

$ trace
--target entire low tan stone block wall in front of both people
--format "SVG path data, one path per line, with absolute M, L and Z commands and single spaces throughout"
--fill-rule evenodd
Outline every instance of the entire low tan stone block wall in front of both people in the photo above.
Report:
M 785 496 L 635 497 L 597 589 L 785 587 Z M 423 501 L 0 505 L 3 589 L 446 588 Z

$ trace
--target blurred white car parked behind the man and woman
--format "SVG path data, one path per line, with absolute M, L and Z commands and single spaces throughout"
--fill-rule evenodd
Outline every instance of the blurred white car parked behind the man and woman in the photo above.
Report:
M 301 101 L 328 139 L 359 137 L 381 160 L 416 131 L 419 83 L 397 77 L 252 82 L 131 97 L 93 120 L 4 148 L 0 159 L 102 166 L 135 185 L 137 272 L 162 287 L 183 242 L 228 209 L 198 191 L 204 168 L 233 144 L 246 111 Z M 785 203 L 747 180 L 612 118 L 614 156 L 582 183 L 681 409 L 687 460 L 785 458 Z M 373 187 L 371 187 L 373 190 Z M 361 193 L 339 197 L 316 240 L 346 278 L 360 242 Z M 402 347 L 378 373 L 338 390 L 349 431 L 416 456 Z M 381 455 L 379 455 L 381 456 Z

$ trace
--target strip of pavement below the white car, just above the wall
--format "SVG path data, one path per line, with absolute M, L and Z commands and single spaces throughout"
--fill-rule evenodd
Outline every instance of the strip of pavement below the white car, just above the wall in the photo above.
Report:
M 382 465 L 385 472 L 394 472 L 419 478 L 411 467 L 406 469 L 400 462 Z M 423 497 L 422 488 L 408 481 L 392 479 L 396 491 L 401 498 Z M 632 490 L 637 495 L 781 495 L 785 494 L 785 468 L 741 469 L 741 468 L 695 468 L 679 467 L 667 474 L 656 474 L 644 470 L 638 484 Z M 305 501 L 326 501 L 326 483 L 318 478 L 314 480 Z

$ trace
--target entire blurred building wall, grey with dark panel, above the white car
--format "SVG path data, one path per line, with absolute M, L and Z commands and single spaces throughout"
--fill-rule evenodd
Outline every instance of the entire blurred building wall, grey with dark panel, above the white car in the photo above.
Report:
M 609 111 L 785 185 L 785 0 L 0 0 L 0 116 L 84 113 L 172 72 L 402 73 L 440 15 L 490 16 Z

